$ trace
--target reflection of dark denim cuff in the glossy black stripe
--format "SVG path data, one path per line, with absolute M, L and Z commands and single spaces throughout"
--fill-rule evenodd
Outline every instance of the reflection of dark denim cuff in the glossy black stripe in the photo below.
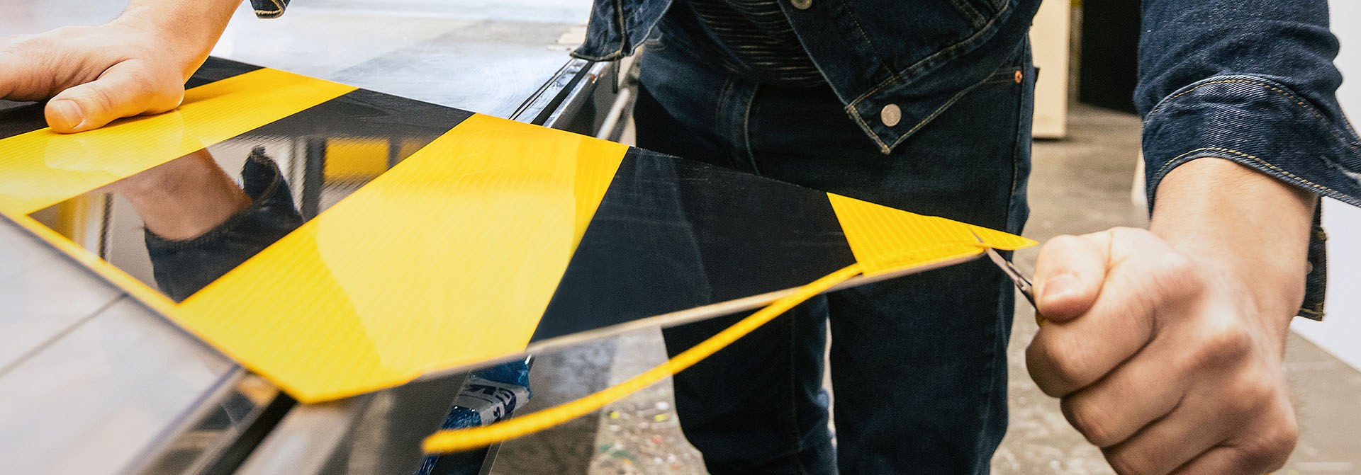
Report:
M 256 147 L 241 169 L 250 206 L 212 230 L 182 241 L 146 233 L 157 284 L 182 301 L 275 241 L 302 226 L 279 166 Z

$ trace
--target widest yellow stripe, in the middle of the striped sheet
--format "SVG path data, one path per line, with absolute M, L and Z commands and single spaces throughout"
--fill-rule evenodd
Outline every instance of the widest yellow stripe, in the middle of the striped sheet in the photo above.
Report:
M 174 313 L 302 402 L 520 353 L 626 151 L 472 116 Z

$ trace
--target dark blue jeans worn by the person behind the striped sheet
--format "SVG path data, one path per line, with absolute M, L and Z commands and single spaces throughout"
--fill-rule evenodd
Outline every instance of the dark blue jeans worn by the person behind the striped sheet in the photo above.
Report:
M 885 155 L 829 87 L 743 80 L 664 31 L 641 63 L 640 147 L 1021 231 L 1029 50 Z M 814 298 L 678 374 L 682 429 L 712 474 L 985 474 L 1007 423 L 1013 291 L 977 260 Z M 735 318 L 667 329 L 667 351 Z

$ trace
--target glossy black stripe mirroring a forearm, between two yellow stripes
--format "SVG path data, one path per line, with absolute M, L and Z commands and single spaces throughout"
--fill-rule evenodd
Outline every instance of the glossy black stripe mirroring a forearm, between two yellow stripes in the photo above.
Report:
M 255 69 L 210 59 L 191 86 Z M 42 127 L 39 103 L 11 106 L 0 109 L 0 131 Z M 84 240 L 91 252 L 180 301 L 471 116 L 355 90 L 33 216 L 59 233 L 97 230 Z M 211 212 L 240 208 L 242 197 L 248 206 L 225 222 Z M 152 220 L 201 233 L 163 238 Z

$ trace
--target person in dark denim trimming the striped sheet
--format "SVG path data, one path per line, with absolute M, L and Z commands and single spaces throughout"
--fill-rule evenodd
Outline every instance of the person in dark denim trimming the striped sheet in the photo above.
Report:
M 169 110 L 240 1 L 133 0 L 106 26 L 8 39 L 0 97 L 52 98 L 60 132 Z M 260 16 L 287 3 L 252 1 Z M 596 1 L 573 54 L 649 45 L 645 148 L 1021 231 L 1038 0 L 776 4 L 823 83 L 744 71 L 721 38 L 686 27 L 685 1 Z M 1049 324 L 1028 348 L 1032 377 L 1120 474 L 1266 472 L 1294 446 L 1281 366 L 1290 318 L 1322 317 L 1317 196 L 1361 204 L 1327 23 L 1324 0 L 1143 1 L 1150 229 L 1045 244 L 1036 289 Z M 1006 427 L 1013 309 L 988 265 L 818 298 L 682 373 L 687 437 L 715 474 L 987 472 Z M 668 331 L 668 350 L 723 323 Z

